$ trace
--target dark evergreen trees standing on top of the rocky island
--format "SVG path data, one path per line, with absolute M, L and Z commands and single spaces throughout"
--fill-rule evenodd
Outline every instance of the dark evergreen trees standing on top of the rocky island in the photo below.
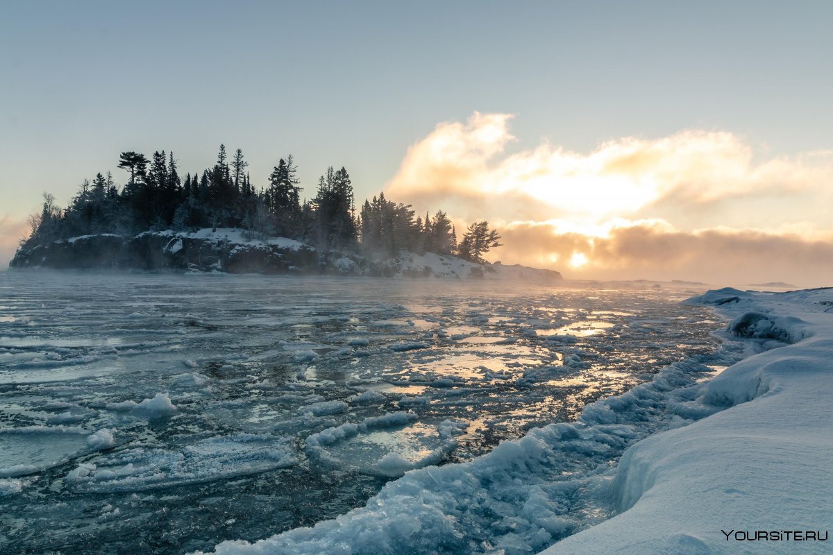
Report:
M 112 173 L 84 180 L 66 208 L 44 193 L 42 211 L 29 218 L 30 235 L 22 247 L 32 248 L 78 235 L 135 235 L 146 230 L 197 230 L 237 227 L 252 239 L 283 236 L 322 250 L 363 250 L 397 255 L 401 249 L 457 255 L 483 261 L 500 235 L 479 221 L 457 240 L 456 229 L 443 211 L 425 218 L 412 206 L 388 201 L 384 193 L 366 200 L 356 211 L 350 175 L 330 166 L 318 179 L 316 195 L 302 200 L 292 155 L 281 158 L 260 189 L 252 186 L 248 162 L 239 148 L 231 159 L 220 145 L 217 162 L 182 179 L 173 152 L 155 151 L 151 158 L 124 151 L 118 167 L 127 171 L 119 188 Z M 416 216 L 416 217 L 415 217 Z

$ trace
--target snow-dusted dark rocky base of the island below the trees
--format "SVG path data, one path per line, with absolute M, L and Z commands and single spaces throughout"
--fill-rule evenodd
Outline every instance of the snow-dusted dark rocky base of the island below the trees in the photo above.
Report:
M 455 256 L 402 251 L 395 257 L 324 253 L 297 240 L 252 240 L 241 230 L 146 231 L 134 237 L 83 235 L 17 250 L 12 268 L 222 271 L 378 277 L 559 281 L 553 270 L 476 264 Z

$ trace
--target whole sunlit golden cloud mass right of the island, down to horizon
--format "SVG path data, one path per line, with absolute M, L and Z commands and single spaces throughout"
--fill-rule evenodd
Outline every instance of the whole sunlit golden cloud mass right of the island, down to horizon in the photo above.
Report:
M 495 257 L 567 275 L 804 284 L 833 269 L 833 151 L 767 157 L 730 132 L 686 130 L 506 154 L 510 122 L 441 123 L 386 196 L 491 221 L 505 245 Z

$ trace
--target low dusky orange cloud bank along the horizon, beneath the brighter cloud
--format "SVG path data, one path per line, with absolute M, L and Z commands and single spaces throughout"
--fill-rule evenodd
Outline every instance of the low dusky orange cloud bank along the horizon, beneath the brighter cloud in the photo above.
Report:
M 501 228 L 503 260 L 561 269 L 568 277 L 689 279 L 749 284 L 821 285 L 833 273 L 833 237 L 806 239 L 766 230 L 676 230 L 666 222 L 612 227 L 606 236 L 561 233 L 552 225 L 516 222 Z M 586 264 L 571 265 L 576 253 Z

